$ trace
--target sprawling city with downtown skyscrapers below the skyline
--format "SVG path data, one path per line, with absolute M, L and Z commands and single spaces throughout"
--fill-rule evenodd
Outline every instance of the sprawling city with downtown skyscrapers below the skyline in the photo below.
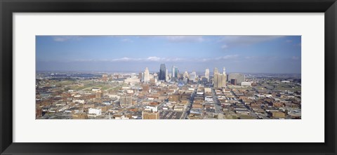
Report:
M 300 78 L 183 72 L 37 73 L 37 119 L 300 119 Z

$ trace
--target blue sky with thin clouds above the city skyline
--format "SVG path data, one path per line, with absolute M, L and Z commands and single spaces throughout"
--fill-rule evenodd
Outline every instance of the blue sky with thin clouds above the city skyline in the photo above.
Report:
M 300 73 L 300 36 L 36 36 L 37 71 Z

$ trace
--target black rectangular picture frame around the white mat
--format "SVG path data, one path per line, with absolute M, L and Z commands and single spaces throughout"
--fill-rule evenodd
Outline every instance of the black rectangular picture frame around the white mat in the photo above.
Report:
M 336 0 L 1 0 L 1 154 L 336 154 Z M 13 142 L 13 13 L 324 13 L 324 143 Z M 315 31 L 315 29 L 312 29 Z M 315 72 L 314 72 L 315 73 Z M 29 134 L 29 133 L 27 133 Z M 310 135 L 308 135 L 310 136 Z

